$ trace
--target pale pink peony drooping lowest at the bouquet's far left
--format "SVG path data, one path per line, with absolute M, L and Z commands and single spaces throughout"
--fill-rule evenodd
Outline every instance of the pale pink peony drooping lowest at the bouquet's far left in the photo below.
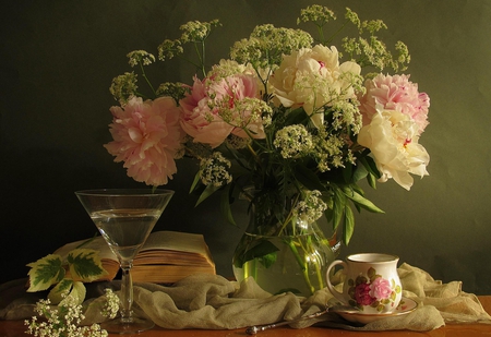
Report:
M 124 161 L 128 176 L 147 185 L 161 185 L 177 172 L 176 154 L 184 133 L 179 125 L 180 109 L 173 99 L 143 101 L 132 98 L 123 108 L 110 109 L 113 141 L 104 145 L 115 161 Z

